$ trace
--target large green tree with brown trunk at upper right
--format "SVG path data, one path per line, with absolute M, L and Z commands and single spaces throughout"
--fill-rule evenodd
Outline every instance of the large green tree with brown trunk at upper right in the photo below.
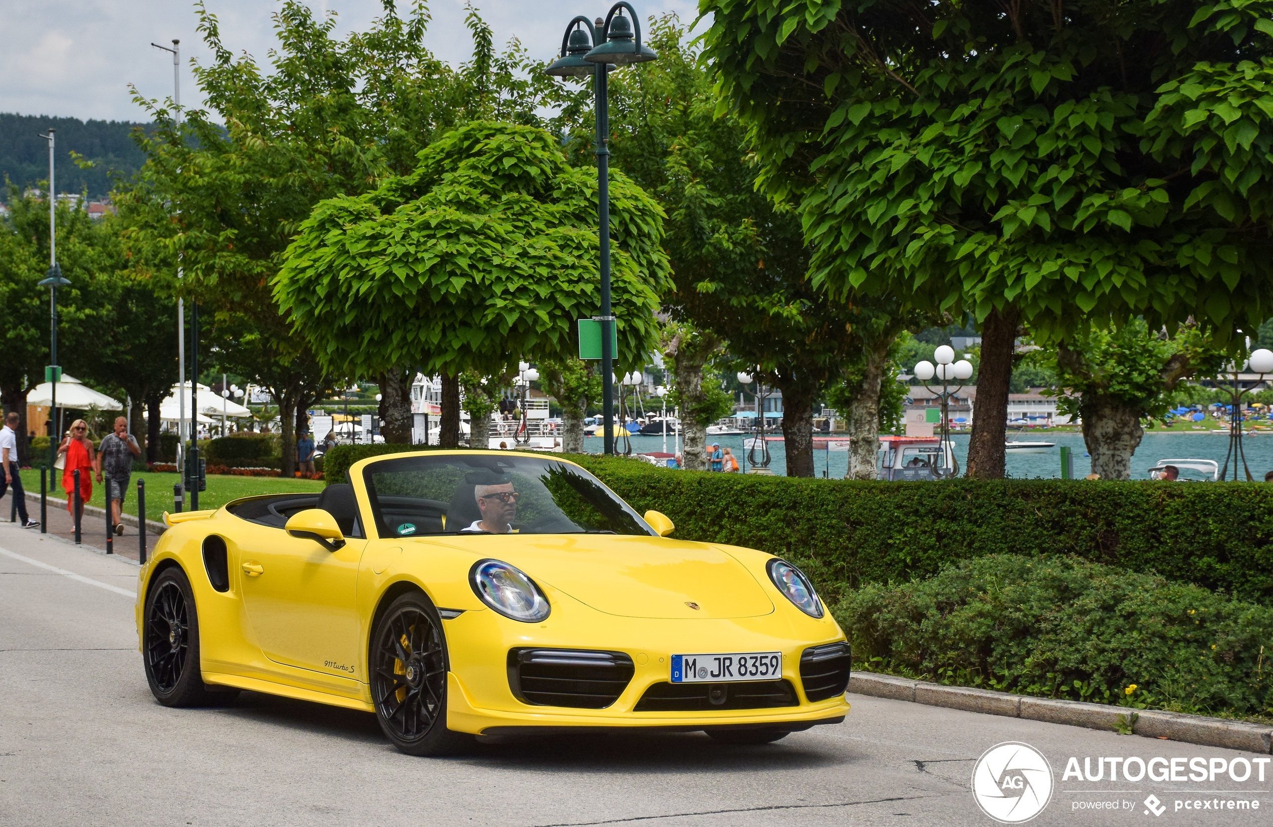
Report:
M 966 308 L 969 473 L 1003 473 L 1013 341 L 1269 314 L 1268 0 L 710 0 L 707 55 L 798 202 L 813 281 Z

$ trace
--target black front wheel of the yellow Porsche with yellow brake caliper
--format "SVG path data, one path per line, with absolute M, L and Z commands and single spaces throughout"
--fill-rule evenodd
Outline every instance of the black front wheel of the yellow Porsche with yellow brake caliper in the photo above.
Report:
M 412 756 L 453 753 L 472 738 L 447 729 L 447 640 L 419 592 L 393 601 L 372 636 L 372 700 L 384 735 Z

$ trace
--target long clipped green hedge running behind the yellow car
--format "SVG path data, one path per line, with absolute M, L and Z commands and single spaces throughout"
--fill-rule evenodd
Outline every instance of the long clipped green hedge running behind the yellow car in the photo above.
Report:
M 335 448 L 327 481 L 363 457 Z M 1245 482 L 947 480 L 858 482 L 671 471 L 569 455 L 685 539 L 761 548 L 805 566 L 833 599 L 867 583 L 929 578 L 995 553 L 1076 553 L 1273 603 L 1273 486 Z

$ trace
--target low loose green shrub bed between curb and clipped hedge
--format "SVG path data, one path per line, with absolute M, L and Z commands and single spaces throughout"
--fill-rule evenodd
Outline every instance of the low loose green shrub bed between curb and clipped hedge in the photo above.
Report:
M 1185 712 L 1267 715 L 1273 701 L 1273 608 L 1076 556 L 965 560 L 864 585 L 834 613 L 873 671 Z

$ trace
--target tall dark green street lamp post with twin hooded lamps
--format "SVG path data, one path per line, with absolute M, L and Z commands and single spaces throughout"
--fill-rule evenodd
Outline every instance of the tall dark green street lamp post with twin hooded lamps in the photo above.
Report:
M 622 15 L 626 9 L 631 20 Z M 616 17 L 617 13 L 617 17 Z M 598 31 L 600 27 L 600 31 Z M 640 20 L 629 3 L 616 3 L 596 25 L 579 15 L 570 20 L 561 37 L 560 59 L 547 69 L 555 78 L 593 78 L 593 109 L 596 112 L 597 156 L 597 232 L 601 239 L 601 402 L 605 452 L 615 453 L 615 387 L 614 387 L 614 323 L 610 305 L 610 102 L 607 73 L 612 67 L 658 60 L 658 55 L 640 42 Z

